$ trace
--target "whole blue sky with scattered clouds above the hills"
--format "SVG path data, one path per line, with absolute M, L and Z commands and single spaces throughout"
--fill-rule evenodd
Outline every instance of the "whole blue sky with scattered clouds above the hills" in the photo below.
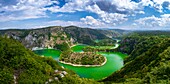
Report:
M 170 0 L 0 0 L 0 29 L 169 30 Z

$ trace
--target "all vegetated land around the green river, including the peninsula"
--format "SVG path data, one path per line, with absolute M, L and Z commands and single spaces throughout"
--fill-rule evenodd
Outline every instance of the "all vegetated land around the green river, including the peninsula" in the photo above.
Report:
M 30 49 L 42 46 L 57 48 L 63 51 L 60 60 L 73 64 L 100 65 L 105 61 L 102 55 L 91 52 L 120 51 L 128 54 L 129 56 L 124 60 L 125 66 L 102 80 L 105 83 L 170 83 L 169 31 L 136 31 L 126 35 L 116 50 L 103 48 L 103 46 L 114 46 L 114 40 L 106 39 L 110 36 L 119 38 L 118 34 L 123 33 L 109 31 L 69 26 L 35 30 L 3 30 L 0 35 L 17 39 Z M 60 36 L 60 34 L 63 35 Z M 74 41 L 70 41 L 70 38 Z M 100 41 L 95 42 L 95 39 Z M 85 53 L 73 53 L 68 43 L 83 43 L 100 48 L 88 46 L 83 49 Z M 72 71 L 61 68 L 51 57 L 38 56 L 23 45 L 16 40 L 0 37 L 0 83 L 45 83 L 49 82 L 49 79 L 53 80 L 51 83 L 54 84 L 98 83 L 94 80 L 79 78 Z M 55 70 L 59 72 L 56 73 Z M 61 77 L 60 72 L 63 71 L 68 74 Z

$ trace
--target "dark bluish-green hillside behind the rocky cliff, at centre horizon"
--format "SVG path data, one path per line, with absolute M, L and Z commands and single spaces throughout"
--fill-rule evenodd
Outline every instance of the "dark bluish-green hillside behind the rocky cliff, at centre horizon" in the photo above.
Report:
M 90 28 L 79 28 L 76 26 L 68 26 L 63 28 L 64 31 L 69 34 L 78 43 L 94 44 L 96 39 L 109 38 L 102 33 L 103 30 L 96 30 Z

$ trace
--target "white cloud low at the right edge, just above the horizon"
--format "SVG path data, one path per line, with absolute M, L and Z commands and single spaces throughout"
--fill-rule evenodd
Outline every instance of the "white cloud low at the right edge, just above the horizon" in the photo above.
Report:
M 157 27 L 167 27 L 170 23 L 169 15 L 162 15 L 162 17 L 145 17 L 135 20 L 136 24 L 143 26 L 145 28 L 157 28 Z

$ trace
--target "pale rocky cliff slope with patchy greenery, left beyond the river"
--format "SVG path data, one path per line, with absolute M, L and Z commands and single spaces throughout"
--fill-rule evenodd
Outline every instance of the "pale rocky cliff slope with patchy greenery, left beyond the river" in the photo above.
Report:
M 68 43 L 73 45 L 73 40 L 68 38 L 62 27 L 47 27 L 43 29 L 30 30 L 3 30 L 1 35 L 7 35 L 19 40 L 24 46 L 33 47 L 54 47 L 55 44 Z

